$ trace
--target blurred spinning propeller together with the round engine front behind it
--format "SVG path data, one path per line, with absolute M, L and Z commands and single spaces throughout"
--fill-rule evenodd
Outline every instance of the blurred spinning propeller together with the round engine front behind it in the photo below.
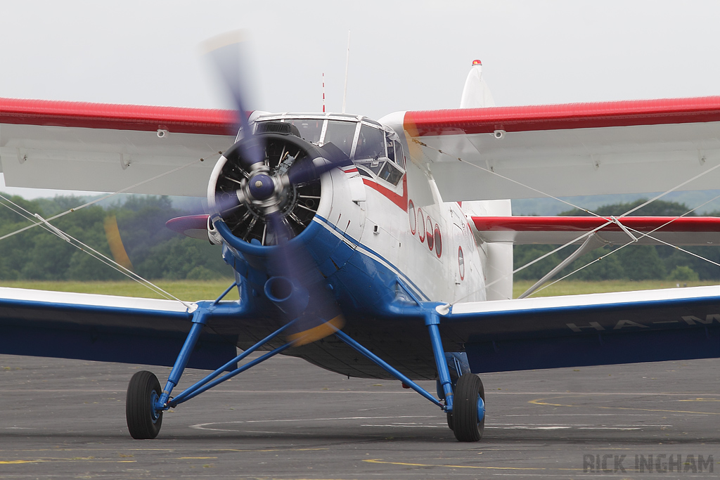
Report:
M 264 246 L 271 278 L 266 296 L 284 312 L 289 340 L 304 345 L 331 335 L 344 325 L 304 245 L 291 242 L 312 222 L 320 205 L 320 176 L 349 163 L 334 145 L 306 142 L 292 123 L 248 120 L 245 43 L 238 34 L 211 41 L 209 60 L 220 73 L 238 112 L 238 142 L 223 154 L 208 188 L 210 208 L 235 237 Z M 320 120 L 321 121 L 321 120 Z M 215 180 L 215 181 L 213 181 Z

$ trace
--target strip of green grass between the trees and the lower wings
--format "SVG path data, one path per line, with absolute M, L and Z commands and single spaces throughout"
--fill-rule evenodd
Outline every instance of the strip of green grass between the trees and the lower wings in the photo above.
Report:
M 533 281 L 516 281 L 513 286 L 513 296 L 518 296 L 526 291 L 533 284 Z M 188 302 L 196 300 L 212 300 L 217 298 L 224 291 L 230 280 L 212 281 L 157 281 L 156 284 L 179 299 Z M 714 281 L 687 282 L 687 286 L 716 285 Z M 106 294 L 121 296 L 143 296 L 146 298 L 162 298 L 147 287 L 137 284 L 134 281 L 0 281 L 0 286 L 9 286 L 19 289 L 55 290 L 55 291 L 77 291 L 85 294 Z M 533 296 L 552 295 L 577 295 L 592 294 L 605 291 L 630 291 L 650 289 L 677 288 L 675 281 L 647 280 L 647 281 L 561 281 L 548 288 L 536 291 Z M 685 282 L 680 284 L 685 286 Z M 720 287 L 719 287 L 720 288 Z M 238 291 L 233 291 L 225 297 L 228 300 L 237 300 Z

